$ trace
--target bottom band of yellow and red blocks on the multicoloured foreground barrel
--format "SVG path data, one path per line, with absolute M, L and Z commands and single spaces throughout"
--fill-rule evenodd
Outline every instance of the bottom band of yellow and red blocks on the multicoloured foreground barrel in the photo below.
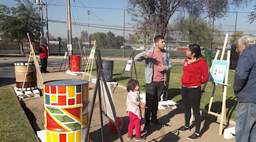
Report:
M 72 132 L 55 132 L 47 130 L 47 142 L 82 142 L 81 130 Z

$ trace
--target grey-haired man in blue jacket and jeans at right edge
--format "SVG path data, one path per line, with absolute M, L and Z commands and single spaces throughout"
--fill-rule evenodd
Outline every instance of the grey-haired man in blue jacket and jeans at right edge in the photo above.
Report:
M 243 36 L 237 40 L 240 54 L 235 69 L 233 89 L 238 105 L 235 126 L 237 142 L 256 141 L 256 46 L 255 39 Z

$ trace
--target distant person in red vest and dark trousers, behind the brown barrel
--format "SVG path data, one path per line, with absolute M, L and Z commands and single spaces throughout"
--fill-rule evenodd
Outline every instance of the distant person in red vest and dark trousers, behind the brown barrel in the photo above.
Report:
M 41 73 L 49 73 L 49 71 L 47 71 L 47 58 L 48 58 L 47 42 L 45 42 L 45 44 L 42 44 L 39 47 L 39 52 L 40 52 L 40 61 L 41 61 Z

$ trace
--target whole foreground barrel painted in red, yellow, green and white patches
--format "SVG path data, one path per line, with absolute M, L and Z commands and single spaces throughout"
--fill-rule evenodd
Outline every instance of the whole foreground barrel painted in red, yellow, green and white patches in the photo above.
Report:
M 43 85 L 47 142 L 84 141 L 88 122 L 89 83 L 48 81 Z

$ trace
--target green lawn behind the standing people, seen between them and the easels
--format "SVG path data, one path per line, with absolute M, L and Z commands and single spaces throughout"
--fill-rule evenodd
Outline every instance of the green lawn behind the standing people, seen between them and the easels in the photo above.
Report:
M 114 63 L 114 71 L 113 71 L 113 81 L 118 81 L 120 78 L 120 75 L 122 73 L 122 70 L 124 69 L 126 63 Z M 144 77 L 144 63 L 136 63 L 136 72 L 138 75 L 138 81 L 140 82 L 140 89 L 144 89 L 145 83 L 145 77 Z M 168 89 L 168 99 L 174 100 L 175 102 L 179 102 L 182 104 L 182 96 L 181 96 L 181 77 L 182 77 L 182 65 L 174 65 L 172 68 L 172 71 L 170 73 L 170 85 Z M 83 67 L 84 69 L 84 67 Z M 95 67 L 93 67 L 95 69 Z M 92 71 L 92 75 L 96 76 L 96 71 Z M 236 112 L 236 105 L 237 100 L 235 98 L 235 94 L 233 93 L 233 79 L 234 79 L 235 72 L 229 70 L 229 80 L 227 83 L 231 85 L 230 87 L 227 87 L 227 118 L 231 120 L 235 120 L 235 112 Z M 124 75 L 122 75 L 122 79 L 120 79 L 119 84 L 122 86 L 126 86 L 126 83 L 130 79 L 130 73 L 125 72 Z M 136 79 L 135 73 L 133 73 L 133 79 Z M 201 104 L 200 108 L 204 110 L 208 110 L 209 106 L 209 99 L 211 98 L 213 90 L 213 85 L 211 82 L 207 83 L 207 87 L 205 89 L 205 93 L 201 97 Z M 218 85 L 215 90 L 215 95 L 213 98 L 213 105 L 211 108 L 211 111 L 220 113 L 221 112 L 221 104 L 223 99 L 223 86 Z

